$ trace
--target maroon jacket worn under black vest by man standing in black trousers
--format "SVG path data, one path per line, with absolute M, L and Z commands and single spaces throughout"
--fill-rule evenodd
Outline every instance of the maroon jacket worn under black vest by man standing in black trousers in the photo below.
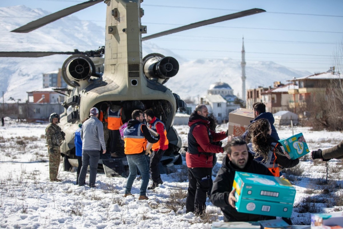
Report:
M 197 144 L 199 145 L 198 151 L 210 153 L 224 152 L 223 147 L 213 145 L 210 142 L 208 129 L 206 128 L 209 127 L 209 121 L 205 120 L 202 116 L 192 113 L 189 118 L 188 126 L 191 127 L 194 123 L 197 122 L 202 122 L 205 124 L 196 125 L 192 131 L 192 135 L 194 136 Z M 220 141 L 227 137 L 225 131 L 216 133 L 210 130 L 210 133 L 213 136 L 213 141 Z M 190 133 L 188 133 L 188 136 L 189 135 Z M 192 143 L 188 140 L 188 146 L 190 144 Z M 212 160 L 213 156 L 208 156 L 205 154 L 191 154 L 189 152 L 186 152 L 186 163 L 188 168 L 212 168 Z

